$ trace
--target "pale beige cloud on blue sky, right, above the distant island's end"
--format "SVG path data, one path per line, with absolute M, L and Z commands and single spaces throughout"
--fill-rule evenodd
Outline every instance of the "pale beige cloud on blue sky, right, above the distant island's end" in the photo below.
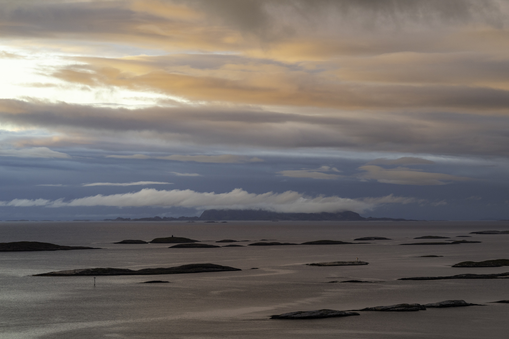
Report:
M 420 170 L 414 170 L 405 167 L 385 169 L 380 166 L 366 165 L 361 166 L 358 169 L 366 171 L 365 173 L 354 175 L 360 179 L 375 179 L 378 182 L 395 183 L 400 185 L 445 185 L 451 181 L 473 180 L 472 178 L 464 176 L 422 172 Z

